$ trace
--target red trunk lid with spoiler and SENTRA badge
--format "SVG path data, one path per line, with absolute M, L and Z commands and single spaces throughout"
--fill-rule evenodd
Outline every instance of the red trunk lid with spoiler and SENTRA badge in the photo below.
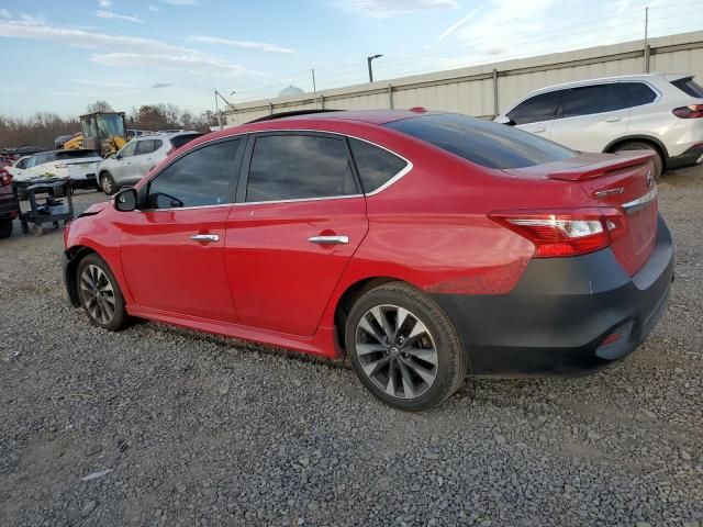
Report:
M 657 186 L 652 153 L 579 154 L 570 159 L 529 169 L 536 176 L 577 184 L 588 197 L 584 205 L 614 206 L 623 211 L 626 229 L 611 249 L 625 271 L 635 274 L 651 256 L 657 238 Z M 523 173 L 526 175 L 526 173 Z

